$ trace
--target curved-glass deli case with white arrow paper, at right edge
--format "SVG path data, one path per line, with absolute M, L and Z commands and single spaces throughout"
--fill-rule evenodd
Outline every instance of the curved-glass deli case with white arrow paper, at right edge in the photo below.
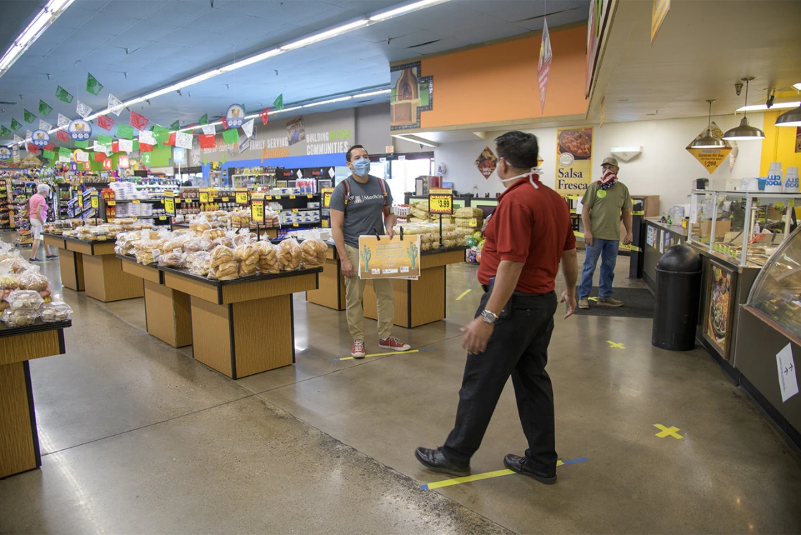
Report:
M 738 325 L 740 385 L 801 446 L 801 230 L 771 254 L 759 272 Z M 795 360 L 799 359 L 799 360 Z

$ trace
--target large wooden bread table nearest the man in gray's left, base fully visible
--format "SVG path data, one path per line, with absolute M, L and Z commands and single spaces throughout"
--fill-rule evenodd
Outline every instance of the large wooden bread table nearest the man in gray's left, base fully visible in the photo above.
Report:
M 295 362 L 292 294 L 315 290 L 323 268 L 208 280 L 159 267 L 164 286 L 188 294 L 195 359 L 231 379 Z

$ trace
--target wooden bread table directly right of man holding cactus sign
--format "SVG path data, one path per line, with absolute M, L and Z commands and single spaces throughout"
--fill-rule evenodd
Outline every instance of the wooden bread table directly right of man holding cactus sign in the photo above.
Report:
M 395 293 L 395 324 L 414 328 L 445 320 L 445 268 L 449 263 L 465 261 L 467 247 L 443 247 L 420 253 L 418 280 L 393 279 Z M 376 292 L 368 281 L 364 287 L 364 317 L 378 319 Z

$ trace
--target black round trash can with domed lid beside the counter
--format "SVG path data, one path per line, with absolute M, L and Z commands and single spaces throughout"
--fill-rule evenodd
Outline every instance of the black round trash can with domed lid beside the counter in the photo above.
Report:
M 687 245 L 674 245 L 659 259 L 651 344 L 669 351 L 695 347 L 702 266 L 701 255 Z

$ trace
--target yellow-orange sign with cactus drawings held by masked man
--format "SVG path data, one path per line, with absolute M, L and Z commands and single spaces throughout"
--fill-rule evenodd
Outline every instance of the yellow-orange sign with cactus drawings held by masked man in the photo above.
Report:
M 410 279 L 420 276 L 420 235 L 359 237 L 362 279 Z

